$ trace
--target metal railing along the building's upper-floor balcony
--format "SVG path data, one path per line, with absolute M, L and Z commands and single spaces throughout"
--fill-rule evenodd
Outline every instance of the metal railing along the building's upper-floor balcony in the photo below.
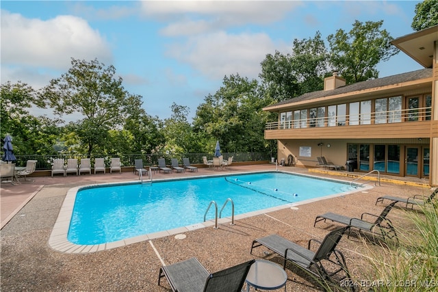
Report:
M 396 122 L 414 122 L 430 120 L 431 107 L 416 109 L 398 109 L 395 111 L 374 111 L 366 114 L 335 116 L 322 118 L 305 118 L 299 120 L 284 120 L 281 122 L 268 122 L 266 130 L 279 129 L 305 129 L 315 127 L 355 126 L 361 124 L 391 124 Z

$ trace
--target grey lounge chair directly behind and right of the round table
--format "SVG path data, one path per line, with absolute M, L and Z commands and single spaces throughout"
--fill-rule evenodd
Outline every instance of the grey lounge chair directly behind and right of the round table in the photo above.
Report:
M 333 230 L 326 235 L 323 241 L 310 239 L 307 243 L 307 248 L 303 248 L 301 245 L 279 235 L 268 235 L 253 241 L 250 254 L 253 254 L 253 248 L 263 245 L 272 250 L 272 252 L 283 256 L 283 269 L 285 269 L 286 263 L 289 261 L 313 276 L 322 278 L 322 280 L 331 280 L 332 282 L 335 282 L 335 280 L 342 281 L 351 277 L 344 255 L 336 249 L 336 245 L 349 228 L 350 226 L 345 226 Z M 319 243 L 318 250 L 315 252 L 311 250 L 314 245 L 313 241 Z M 336 279 L 333 277 L 335 275 L 338 275 Z

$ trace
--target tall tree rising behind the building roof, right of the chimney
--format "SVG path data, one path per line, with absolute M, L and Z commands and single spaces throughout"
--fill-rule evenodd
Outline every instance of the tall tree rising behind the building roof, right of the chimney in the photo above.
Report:
M 338 29 L 327 38 L 331 64 L 347 84 L 378 78 L 376 65 L 398 53 L 391 45 L 393 38 L 386 29 L 381 29 L 382 25 L 383 21 L 355 21 L 348 33 Z

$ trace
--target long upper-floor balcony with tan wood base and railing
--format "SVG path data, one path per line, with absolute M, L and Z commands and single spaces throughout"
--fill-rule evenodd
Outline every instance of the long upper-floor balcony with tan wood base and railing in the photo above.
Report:
M 266 139 L 429 137 L 431 107 L 268 122 Z

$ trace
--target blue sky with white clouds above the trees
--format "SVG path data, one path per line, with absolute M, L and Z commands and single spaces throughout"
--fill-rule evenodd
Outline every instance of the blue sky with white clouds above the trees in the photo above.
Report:
M 356 20 L 383 20 L 399 38 L 413 32 L 419 2 L 1 1 L 0 79 L 38 89 L 67 72 L 72 57 L 98 59 L 142 96 L 147 114 L 170 118 L 176 103 L 191 121 L 225 76 L 259 79 L 266 55 L 292 53 L 294 39 L 320 31 L 326 40 Z M 379 77 L 420 68 L 402 52 L 377 67 Z

